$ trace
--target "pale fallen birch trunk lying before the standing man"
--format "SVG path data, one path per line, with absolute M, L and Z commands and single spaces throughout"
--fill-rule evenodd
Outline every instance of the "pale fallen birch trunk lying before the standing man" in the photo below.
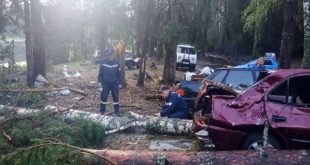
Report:
M 47 112 L 58 116 L 64 121 L 72 121 L 76 119 L 84 119 L 102 124 L 106 130 L 106 134 L 115 133 L 130 127 L 143 126 L 149 130 L 163 134 L 188 134 L 192 131 L 191 120 L 161 118 L 153 116 L 145 116 L 129 113 L 129 116 L 114 117 L 99 115 L 97 113 L 84 112 L 79 110 L 59 110 L 54 106 L 45 107 L 44 111 L 36 109 L 16 108 L 0 105 L 0 112 L 12 112 L 17 115 L 38 115 L 40 112 Z

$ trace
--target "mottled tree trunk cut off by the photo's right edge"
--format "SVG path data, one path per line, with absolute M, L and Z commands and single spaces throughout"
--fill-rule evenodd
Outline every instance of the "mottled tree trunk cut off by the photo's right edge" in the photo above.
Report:
M 310 68 L 310 0 L 304 0 L 304 57 L 302 68 Z

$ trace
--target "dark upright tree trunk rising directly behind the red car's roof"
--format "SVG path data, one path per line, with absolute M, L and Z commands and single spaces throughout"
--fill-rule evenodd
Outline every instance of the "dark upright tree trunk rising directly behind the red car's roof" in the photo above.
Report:
M 280 68 L 289 69 L 291 66 L 292 50 L 295 38 L 295 27 L 298 13 L 298 0 L 283 0 L 284 24 L 280 47 Z

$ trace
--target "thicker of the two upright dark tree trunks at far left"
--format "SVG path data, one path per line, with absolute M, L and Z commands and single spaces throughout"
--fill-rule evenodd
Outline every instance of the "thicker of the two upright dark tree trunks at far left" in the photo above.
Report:
M 46 50 L 44 28 L 42 23 L 41 4 L 39 0 L 31 0 L 31 20 L 33 34 L 34 76 L 46 77 Z

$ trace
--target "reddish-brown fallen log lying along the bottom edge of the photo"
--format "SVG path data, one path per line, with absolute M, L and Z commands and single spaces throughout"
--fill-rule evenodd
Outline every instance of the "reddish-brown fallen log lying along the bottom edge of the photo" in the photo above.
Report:
M 150 152 L 91 150 L 117 164 L 309 164 L 309 150 L 266 150 L 261 158 L 255 151 Z

